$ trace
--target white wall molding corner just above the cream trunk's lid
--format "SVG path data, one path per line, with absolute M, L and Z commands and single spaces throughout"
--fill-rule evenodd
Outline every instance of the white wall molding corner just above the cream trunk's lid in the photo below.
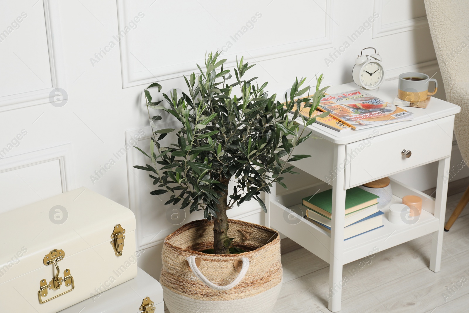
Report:
M 50 148 L 17 154 L 0 159 L 0 173 L 18 168 L 59 160 L 62 192 L 75 189 L 72 144 L 57 145 Z

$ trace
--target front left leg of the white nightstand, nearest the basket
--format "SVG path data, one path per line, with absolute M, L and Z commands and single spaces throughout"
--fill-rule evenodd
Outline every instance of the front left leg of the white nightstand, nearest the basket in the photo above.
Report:
M 344 222 L 345 222 L 345 145 L 335 145 L 334 162 L 335 178 L 332 183 L 332 227 L 331 247 L 329 256 L 329 310 L 340 311 L 342 298 L 342 265 L 344 245 Z

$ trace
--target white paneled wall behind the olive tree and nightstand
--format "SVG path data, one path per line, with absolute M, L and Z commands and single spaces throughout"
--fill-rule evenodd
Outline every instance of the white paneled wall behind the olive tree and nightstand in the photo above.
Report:
M 257 63 L 250 72 L 271 93 L 296 76 L 314 84 L 319 73 L 325 84 L 343 84 L 368 46 L 383 57 L 386 79 L 418 70 L 442 84 L 422 0 L 22 0 L 3 1 L 0 21 L 1 210 L 86 186 L 136 213 L 140 266 L 155 277 L 162 240 L 182 213 L 151 196 L 147 173 L 132 168 L 144 160 L 131 145 L 148 145 L 148 84 L 184 90 L 182 75 L 216 49 L 228 64 L 236 55 Z M 424 175 L 416 188 L 427 189 L 436 184 L 433 170 L 399 178 L 415 184 Z M 286 180 L 315 183 L 305 174 Z M 257 203 L 231 216 L 263 222 Z

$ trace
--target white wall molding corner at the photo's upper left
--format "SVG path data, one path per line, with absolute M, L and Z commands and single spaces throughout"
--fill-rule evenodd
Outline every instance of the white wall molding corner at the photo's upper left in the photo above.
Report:
M 62 51 L 59 0 L 42 0 L 44 4 L 45 32 L 49 51 L 52 87 L 0 97 L 0 112 L 31 107 L 49 102 L 55 88 L 66 89 Z M 67 95 L 63 95 L 67 99 Z

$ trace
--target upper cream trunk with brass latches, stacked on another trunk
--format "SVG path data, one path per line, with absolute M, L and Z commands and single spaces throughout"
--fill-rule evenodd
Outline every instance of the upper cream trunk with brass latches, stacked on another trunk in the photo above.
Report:
M 137 274 L 134 214 L 84 187 L 0 214 L 0 238 L 2 313 L 55 313 Z

